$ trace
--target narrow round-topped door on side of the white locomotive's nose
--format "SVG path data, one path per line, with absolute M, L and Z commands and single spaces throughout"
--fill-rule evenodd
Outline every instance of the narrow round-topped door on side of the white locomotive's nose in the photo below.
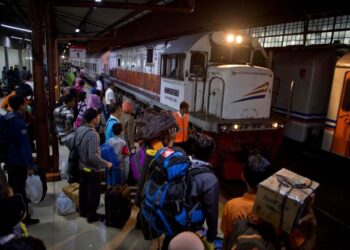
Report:
M 224 98 L 224 79 L 221 77 L 213 77 L 209 81 L 209 98 L 207 99 L 207 110 L 209 114 L 222 118 L 222 105 Z

